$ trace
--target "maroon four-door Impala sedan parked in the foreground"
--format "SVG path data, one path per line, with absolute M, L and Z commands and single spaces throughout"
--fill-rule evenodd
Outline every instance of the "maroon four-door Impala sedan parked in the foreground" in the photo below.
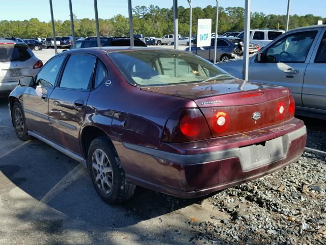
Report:
M 287 88 L 244 82 L 181 51 L 72 50 L 19 84 L 9 96 L 17 136 L 82 162 L 109 203 L 135 185 L 206 195 L 296 161 L 306 143 Z

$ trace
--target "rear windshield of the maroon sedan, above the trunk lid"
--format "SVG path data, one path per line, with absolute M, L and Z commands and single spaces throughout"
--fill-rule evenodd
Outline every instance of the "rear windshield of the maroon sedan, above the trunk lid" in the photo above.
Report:
M 110 53 L 108 57 L 131 85 L 139 87 L 235 79 L 212 63 L 186 52 L 132 50 Z

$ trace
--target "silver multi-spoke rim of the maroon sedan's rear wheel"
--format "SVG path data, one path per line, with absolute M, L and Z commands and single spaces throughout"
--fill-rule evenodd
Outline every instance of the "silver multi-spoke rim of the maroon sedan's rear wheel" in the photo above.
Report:
M 110 193 L 113 185 L 113 172 L 110 161 L 103 150 L 96 149 L 93 152 L 92 168 L 94 180 L 99 190 L 104 194 Z

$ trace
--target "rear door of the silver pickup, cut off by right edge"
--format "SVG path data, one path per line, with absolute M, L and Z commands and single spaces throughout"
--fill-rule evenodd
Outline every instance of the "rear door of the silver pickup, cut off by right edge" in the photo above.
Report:
M 304 107 L 326 110 L 326 29 L 317 42 L 307 66 L 302 87 Z

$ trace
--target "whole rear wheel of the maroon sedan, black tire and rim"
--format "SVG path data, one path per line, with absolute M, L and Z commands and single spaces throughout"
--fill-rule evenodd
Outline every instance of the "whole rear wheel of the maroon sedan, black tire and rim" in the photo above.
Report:
M 98 137 L 90 144 L 87 166 L 102 200 L 116 204 L 132 197 L 136 186 L 126 180 L 119 157 L 106 136 Z

